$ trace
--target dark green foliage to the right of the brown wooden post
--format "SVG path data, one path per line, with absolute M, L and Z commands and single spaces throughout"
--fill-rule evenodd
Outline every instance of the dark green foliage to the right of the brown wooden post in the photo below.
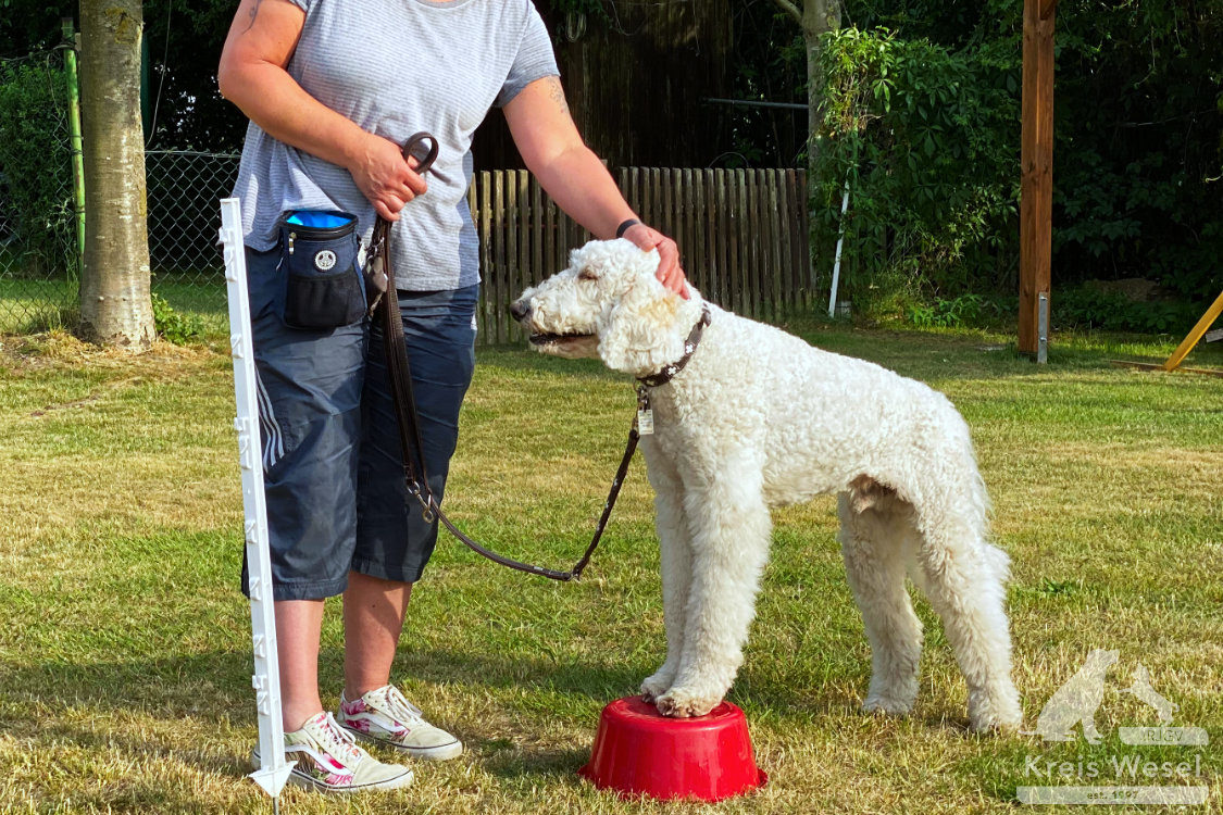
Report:
M 1057 12 L 1054 268 L 1156 280 L 1200 312 L 1223 286 L 1223 2 Z

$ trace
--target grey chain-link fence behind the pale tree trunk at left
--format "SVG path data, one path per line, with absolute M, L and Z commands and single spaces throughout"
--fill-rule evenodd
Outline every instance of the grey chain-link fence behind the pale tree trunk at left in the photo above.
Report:
M 216 202 L 237 165 L 230 154 L 144 156 L 153 293 L 209 332 L 226 330 Z M 79 280 L 68 82 L 56 49 L 0 62 L 0 334 L 73 329 Z

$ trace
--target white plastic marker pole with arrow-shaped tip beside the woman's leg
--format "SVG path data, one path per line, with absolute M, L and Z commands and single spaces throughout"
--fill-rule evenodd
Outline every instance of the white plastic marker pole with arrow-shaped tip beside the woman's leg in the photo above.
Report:
M 225 244 L 225 286 L 230 307 L 230 349 L 234 357 L 234 398 L 237 402 L 238 457 L 242 466 L 242 510 L 246 562 L 251 590 L 251 639 L 254 645 L 254 706 L 259 717 L 260 767 L 251 777 L 272 795 L 280 811 L 280 791 L 294 769 L 285 761 L 285 729 L 280 721 L 280 662 L 276 659 L 276 612 L 272 596 L 272 555 L 268 551 L 268 507 L 263 497 L 259 456 L 254 343 L 251 304 L 246 296 L 246 250 L 242 209 L 237 198 L 221 199 L 221 243 Z

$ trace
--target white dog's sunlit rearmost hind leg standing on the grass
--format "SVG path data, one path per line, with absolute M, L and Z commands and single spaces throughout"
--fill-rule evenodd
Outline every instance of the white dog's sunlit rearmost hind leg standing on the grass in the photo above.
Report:
M 970 502 L 942 512 L 922 508 L 915 580 L 943 621 L 969 684 L 969 723 L 975 731 L 1018 727 L 1022 714 L 1010 678 L 1005 552 L 983 539 L 985 519 Z

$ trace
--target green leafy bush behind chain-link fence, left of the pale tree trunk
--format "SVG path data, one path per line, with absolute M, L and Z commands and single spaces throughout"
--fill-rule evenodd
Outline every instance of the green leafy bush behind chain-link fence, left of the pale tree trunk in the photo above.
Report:
M 0 202 L 27 274 L 77 275 L 67 79 L 43 65 L 0 64 Z

